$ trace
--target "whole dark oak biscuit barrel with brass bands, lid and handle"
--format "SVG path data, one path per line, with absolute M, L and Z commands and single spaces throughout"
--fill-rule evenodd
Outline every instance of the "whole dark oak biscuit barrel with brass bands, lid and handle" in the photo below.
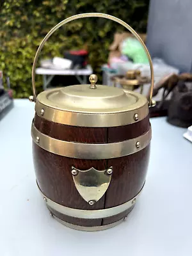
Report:
M 88 13 L 93 14 L 101 17 Z M 113 227 L 131 212 L 145 184 L 151 140 L 148 101 L 139 93 L 96 85 L 95 75 L 90 84 L 36 97 L 36 58 L 31 135 L 36 183 L 45 204 L 68 227 Z

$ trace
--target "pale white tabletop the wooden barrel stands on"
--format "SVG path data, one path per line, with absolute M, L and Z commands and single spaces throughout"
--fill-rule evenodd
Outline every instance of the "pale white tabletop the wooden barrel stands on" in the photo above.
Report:
M 34 104 L 15 100 L 0 122 L 1 256 L 192 255 L 192 144 L 186 129 L 152 118 L 147 182 L 126 221 L 81 232 L 54 220 L 36 188 L 31 152 Z

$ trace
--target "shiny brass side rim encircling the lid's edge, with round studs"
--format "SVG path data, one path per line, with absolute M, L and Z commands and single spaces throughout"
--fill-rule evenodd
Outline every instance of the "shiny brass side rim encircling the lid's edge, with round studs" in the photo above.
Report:
M 131 92 L 129 92 L 131 93 Z M 134 93 L 136 94 L 136 93 Z M 44 93 L 38 95 L 42 99 Z M 145 97 L 138 97 L 139 101 L 132 104 L 129 111 L 121 113 L 77 113 L 73 111 L 62 111 L 55 106 L 45 106 L 36 100 L 35 111 L 38 116 L 45 118 L 51 122 L 58 124 L 74 125 L 81 127 L 115 127 L 127 124 L 133 124 L 143 120 L 148 115 L 148 103 Z M 46 102 L 43 99 L 43 102 Z M 137 106 L 138 104 L 138 106 Z M 44 115 L 42 116 L 42 109 Z M 134 119 L 134 115 L 138 115 L 138 119 Z

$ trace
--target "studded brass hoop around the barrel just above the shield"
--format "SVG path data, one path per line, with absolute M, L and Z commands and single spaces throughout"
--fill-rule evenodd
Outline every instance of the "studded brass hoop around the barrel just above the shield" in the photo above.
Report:
M 34 124 L 31 127 L 31 136 L 39 147 L 59 156 L 78 159 L 111 159 L 131 155 L 147 147 L 151 140 L 151 129 L 131 140 L 104 144 L 57 140 L 38 131 Z

